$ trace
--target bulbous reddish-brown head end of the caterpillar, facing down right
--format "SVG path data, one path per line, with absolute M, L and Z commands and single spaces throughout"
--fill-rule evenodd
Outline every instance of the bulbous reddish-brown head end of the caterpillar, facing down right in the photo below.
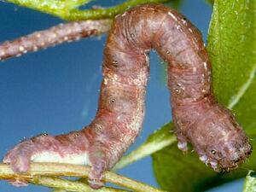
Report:
M 198 122 L 191 138 L 200 160 L 216 172 L 236 169 L 252 153 L 248 137 L 229 110 L 215 106 Z

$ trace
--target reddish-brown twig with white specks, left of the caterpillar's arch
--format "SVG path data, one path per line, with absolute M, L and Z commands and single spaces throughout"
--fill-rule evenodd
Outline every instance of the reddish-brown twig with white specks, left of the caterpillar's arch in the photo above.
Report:
M 13 56 L 20 56 L 30 51 L 45 49 L 55 44 L 62 44 L 79 38 L 101 35 L 108 32 L 111 20 L 85 20 L 53 26 L 48 30 L 34 32 L 14 41 L 0 44 L 0 61 Z

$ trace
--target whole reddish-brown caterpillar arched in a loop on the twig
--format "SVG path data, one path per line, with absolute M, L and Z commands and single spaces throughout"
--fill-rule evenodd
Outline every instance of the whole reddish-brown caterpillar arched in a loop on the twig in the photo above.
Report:
M 236 168 L 252 152 L 232 113 L 212 94 L 211 63 L 201 33 L 183 15 L 163 5 L 146 4 L 118 15 L 109 32 L 96 118 L 81 131 L 46 134 L 19 143 L 4 157 L 15 172 L 31 161 L 91 166 L 89 183 L 103 185 L 111 169 L 143 126 L 148 51 L 168 63 L 177 147 L 192 143 L 200 160 L 214 171 Z M 23 184 L 23 183 L 16 183 Z

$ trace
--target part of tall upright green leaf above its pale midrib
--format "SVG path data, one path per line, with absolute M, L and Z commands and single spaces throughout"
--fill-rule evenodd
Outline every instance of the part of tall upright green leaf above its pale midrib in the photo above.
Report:
M 229 0 L 215 1 L 213 6 L 208 35 L 213 87 L 219 102 L 229 108 L 240 102 L 244 92 L 256 83 L 255 3 Z

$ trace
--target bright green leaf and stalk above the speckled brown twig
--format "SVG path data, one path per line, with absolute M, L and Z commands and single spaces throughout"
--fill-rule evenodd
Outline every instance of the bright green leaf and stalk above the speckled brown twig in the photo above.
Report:
M 79 10 L 75 9 L 84 3 L 88 3 L 89 0 L 7 0 L 9 3 L 15 3 L 17 5 L 36 9 L 46 14 L 55 15 L 64 20 L 91 20 L 91 19 L 106 19 L 113 18 L 125 9 L 131 8 L 132 6 L 144 3 L 165 3 L 169 0 L 128 0 L 125 3 L 113 6 L 108 9 L 90 9 L 90 10 Z

